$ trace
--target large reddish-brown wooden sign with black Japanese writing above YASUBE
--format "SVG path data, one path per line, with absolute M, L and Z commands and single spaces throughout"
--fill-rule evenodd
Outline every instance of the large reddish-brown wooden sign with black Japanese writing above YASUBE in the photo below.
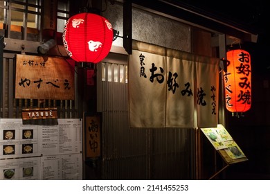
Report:
M 74 67 L 63 58 L 16 55 L 15 98 L 74 100 Z

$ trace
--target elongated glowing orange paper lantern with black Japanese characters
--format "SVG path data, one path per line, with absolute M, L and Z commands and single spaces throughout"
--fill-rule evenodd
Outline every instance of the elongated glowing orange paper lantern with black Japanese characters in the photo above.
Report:
M 226 109 L 246 112 L 251 108 L 251 56 L 242 49 L 226 53 L 228 66 L 224 72 Z

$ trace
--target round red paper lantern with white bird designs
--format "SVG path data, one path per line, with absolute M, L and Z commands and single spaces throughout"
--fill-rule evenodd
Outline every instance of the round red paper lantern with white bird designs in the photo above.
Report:
M 107 19 L 84 12 L 66 21 L 63 44 L 73 60 L 98 63 L 108 55 L 113 34 L 113 28 Z

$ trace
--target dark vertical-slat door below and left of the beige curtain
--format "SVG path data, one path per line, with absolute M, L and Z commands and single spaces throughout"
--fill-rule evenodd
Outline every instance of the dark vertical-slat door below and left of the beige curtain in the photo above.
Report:
M 102 63 L 102 179 L 195 179 L 194 129 L 129 127 L 122 65 Z

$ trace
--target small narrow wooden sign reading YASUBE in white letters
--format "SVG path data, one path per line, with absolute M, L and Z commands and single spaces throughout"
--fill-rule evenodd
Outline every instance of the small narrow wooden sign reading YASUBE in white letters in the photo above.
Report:
M 57 108 L 22 109 L 22 119 L 48 119 L 57 118 Z

